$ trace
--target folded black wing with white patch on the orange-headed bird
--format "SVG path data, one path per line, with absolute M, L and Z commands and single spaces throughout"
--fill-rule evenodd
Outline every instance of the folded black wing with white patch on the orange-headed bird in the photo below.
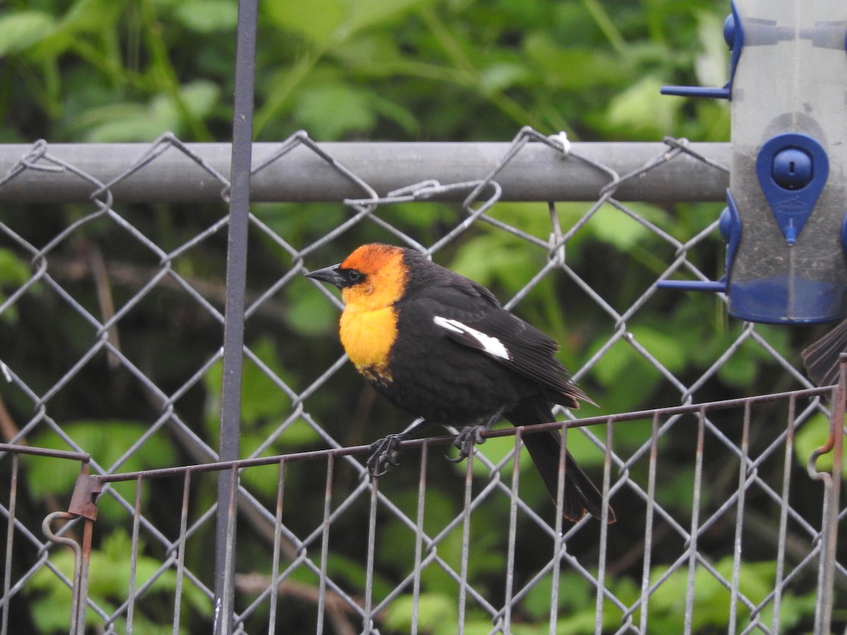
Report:
M 447 338 L 540 384 L 552 401 L 564 398 L 566 405 L 576 399 L 590 401 L 556 359 L 555 340 L 503 309 L 489 290 L 468 283 L 424 290 L 415 299 L 415 310 L 429 313 L 436 331 Z

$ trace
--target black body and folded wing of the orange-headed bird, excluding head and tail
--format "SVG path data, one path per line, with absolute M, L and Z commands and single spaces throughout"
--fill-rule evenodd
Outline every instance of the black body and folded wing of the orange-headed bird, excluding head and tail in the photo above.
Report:
M 430 422 L 457 427 L 484 423 L 499 410 L 507 418 L 514 413 L 522 420 L 514 423 L 525 425 L 529 415 L 520 415 L 527 410 L 527 401 L 575 407 L 577 398 L 584 399 L 553 357 L 555 341 L 507 312 L 479 284 L 416 251 L 406 251 L 404 259 L 408 267 L 426 275 L 413 277 L 395 305 L 397 337 L 388 363 L 393 381 L 374 382 L 396 406 Z M 495 338 L 512 358 L 485 353 L 473 338 L 437 325 L 436 317 L 457 320 Z M 537 413 L 536 408 L 530 410 Z M 543 421 L 553 420 L 550 415 Z

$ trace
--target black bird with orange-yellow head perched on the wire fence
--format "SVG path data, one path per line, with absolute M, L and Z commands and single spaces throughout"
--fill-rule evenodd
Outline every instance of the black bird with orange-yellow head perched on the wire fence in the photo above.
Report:
M 402 410 L 465 427 L 462 456 L 501 416 L 516 426 L 552 422 L 551 403 L 576 408 L 589 400 L 554 357 L 554 340 L 418 251 L 364 245 L 307 276 L 340 288 L 341 343 L 359 373 Z M 556 500 L 561 435 L 527 433 L 523 442 Z M 565 465 L 563 516 L 601 518 L 601 493 L 569 453 Z M 615 521 L 611 507 L 608 521 Z

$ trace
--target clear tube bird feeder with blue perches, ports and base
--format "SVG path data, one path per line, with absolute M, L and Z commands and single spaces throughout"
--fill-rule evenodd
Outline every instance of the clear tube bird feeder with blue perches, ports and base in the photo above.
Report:
M 722 291 L 761 323 L 847 316 L 847 3 L 736 0 L 722 88 L 667 95 L 728 99 L 732 171 L 720 229 L 726 275 L 660 286 Z

